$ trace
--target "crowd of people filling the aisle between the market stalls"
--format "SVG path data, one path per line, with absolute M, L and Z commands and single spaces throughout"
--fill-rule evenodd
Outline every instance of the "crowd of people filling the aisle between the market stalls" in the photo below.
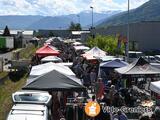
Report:
M 86 99 L 89 99 L 89 94 L 95 95 L 95 99 L 99 103 L 104 103 L 106 106 L 114 107 L 137 107 L 141 105 L 141 101 L 149 100 L 149 97 L 144 93 L 140 93 L 134 89 L 132 83 L 121 80 L 113 71 L 106 74 L 104 70 L 100 69 L 100 61 L 88 61 L 81 56 L 83 51 L 75 51 L 72 44 L 61 44 L 58 48 L 61 51 L 60 58 L 64 62 L 73 62 L 71 69 L 76 76 L 82 80 L 83 85 L 86 87 L 87 92 L 85 94 L 78 93 L 77 96 L 83 95 Z M 34 56 L 36 60 L 35 64 L 38 64 L 39 59 Z M 34 61 L 33 60 L 33 61 Z M 127 85 L 126 85 L 127 83 Z M 77 96 L 72 96 L 76 97 Z M 55 98 L 54 98 L 55 101 Z M 85 101 L 86 102 L 86 101 Z M 60 103 L 62 104 L 62 103 Z M 60 104 L 59 107 L 61 106 Z M 64 105 L 63 105 L 64 106 Z M 66 113 L 64 113 L 66 114 Z M 56 116 L 55 114 L 54 116 Z M 138 116 L 140 114 L 138 113 Z M 89 118 L 87 118 L 89 119 Z M 94 118 L 94 120 L 128 120 L 128 117 L 122 111 L 116 113 L 104 113 L 102 110 L 100 114 Z M 145 116 L 139 118 L 140 120 L 160 120 L 158 112 L 152 114 L 151 117 Z M 69 120 L 69 119 L 68 119 Z M 70 119 L 71 120 L 71 119 Z M 83 119 L 81 119 L 83 120 Z

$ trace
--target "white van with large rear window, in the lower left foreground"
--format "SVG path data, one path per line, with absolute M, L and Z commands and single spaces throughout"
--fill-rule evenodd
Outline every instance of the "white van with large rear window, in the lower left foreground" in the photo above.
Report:
M 51 95 L 44 91 L 18 91 L 7 120 L 49 120 Z

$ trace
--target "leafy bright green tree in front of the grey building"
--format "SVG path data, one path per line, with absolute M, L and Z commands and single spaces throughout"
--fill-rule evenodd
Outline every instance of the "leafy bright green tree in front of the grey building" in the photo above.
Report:
M 100 49 L 106 51 L 111 55 L 120 55 L 123 54 L 124 45 L 120 49 L 118 49 L 118 37 L 117 36 L 101 36 L 97 35 L 94 39 L 89 37 L 87 40 L 87 44 L 90 47 L 97 46 Z

